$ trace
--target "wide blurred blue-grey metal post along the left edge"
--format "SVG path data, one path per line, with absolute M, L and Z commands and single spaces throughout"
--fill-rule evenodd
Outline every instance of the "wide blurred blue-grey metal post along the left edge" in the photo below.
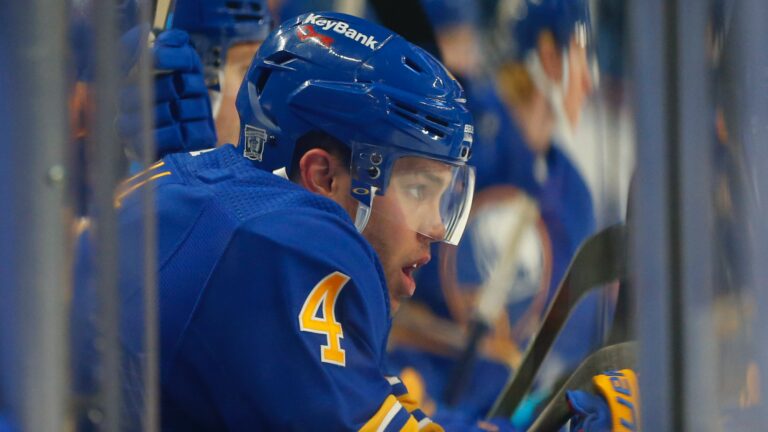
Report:
M 28 431 L 68 417 L 66 16 L 0 2 L 0 397 Z

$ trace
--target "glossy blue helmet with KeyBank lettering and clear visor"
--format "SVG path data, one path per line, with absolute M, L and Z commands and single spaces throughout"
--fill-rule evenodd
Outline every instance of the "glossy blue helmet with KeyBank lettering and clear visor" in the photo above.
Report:
M 437 195 L 444 232 L 429 234 L 423 220 L 409 225 L 456 243 L 474 189 L 467 165 L 474 129 L 465 104 L 459 83 L 423 49 L 361 18 L 310 13 L 283 23 L 254 58 L 237 97 L 239 142 L 269 171 L 289 169 L 297 140 L 309 132 L 343 143 L 361 230 L 373 198 L 398 184 L 398 173 L 419 165 L 415 160 L 435 161 L 450 173 L 433 176 L 445 180 Z

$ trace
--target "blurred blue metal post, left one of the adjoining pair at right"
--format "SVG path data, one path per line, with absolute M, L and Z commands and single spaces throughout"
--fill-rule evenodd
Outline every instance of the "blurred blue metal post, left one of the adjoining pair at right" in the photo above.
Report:
M 674 422 L 670 296 L 671 220 L 665 69 L 665 0 L 629 2 L 631 71 L 635 98 L 637 172 L 631 197 L 630 269 L 637 291 L 638 368 L 643 429 L 682 430 Z

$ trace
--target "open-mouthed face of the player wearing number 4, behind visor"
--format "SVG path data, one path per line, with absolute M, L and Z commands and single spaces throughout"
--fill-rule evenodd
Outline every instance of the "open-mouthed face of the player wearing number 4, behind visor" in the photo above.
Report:
M 445 236 L 440 203 L 451 179 L 451 168 L 441 162 L 403 158 L 386 193 L 374 200 L 363 235 L 379 255 L 393 313 L 416 290 L 413 273 L 430 260 L 430 243 Z

